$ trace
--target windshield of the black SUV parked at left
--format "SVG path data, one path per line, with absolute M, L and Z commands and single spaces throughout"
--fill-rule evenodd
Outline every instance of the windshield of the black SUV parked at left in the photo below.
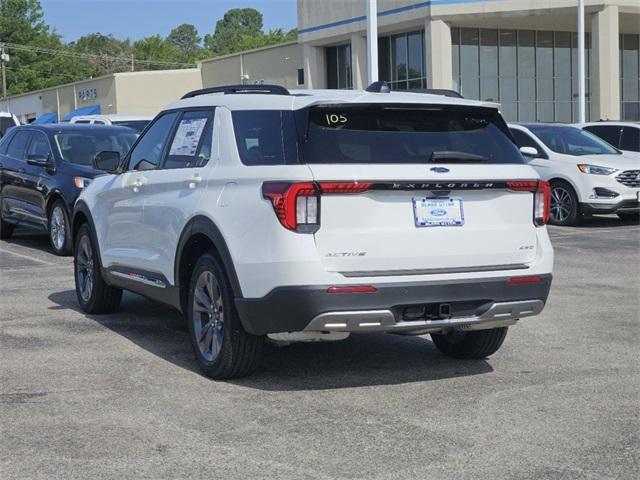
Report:
M 56 133 L 54 136 L 60 156 L 76 165 L 90 166 L 97 153 L 104 150 L 126 155 L 138 135 L 124 129 L 83 129 L 82 131 Z

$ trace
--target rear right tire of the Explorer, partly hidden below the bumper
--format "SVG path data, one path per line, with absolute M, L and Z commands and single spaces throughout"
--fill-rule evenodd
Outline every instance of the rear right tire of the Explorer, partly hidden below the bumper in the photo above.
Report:
M 502 346 L 508 327 L 471 332 L 454 331 L 446 335 L 431 334 L 438 350 L 448 357 L 478 359 L 493 355 Z

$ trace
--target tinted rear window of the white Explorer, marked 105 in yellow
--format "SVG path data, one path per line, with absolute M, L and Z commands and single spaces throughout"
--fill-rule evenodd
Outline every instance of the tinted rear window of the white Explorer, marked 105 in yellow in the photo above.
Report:
M 306 163 L 524 163 L 493 109 L 323 106 L 309 110 Z

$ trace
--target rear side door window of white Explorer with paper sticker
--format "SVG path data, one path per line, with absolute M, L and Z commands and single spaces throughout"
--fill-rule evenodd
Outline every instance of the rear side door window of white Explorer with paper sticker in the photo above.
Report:
M 182 115 L 175 129 L 163 168 L 195 168 L 209 162 L 213 143 L 213 111 L 194 110 Z

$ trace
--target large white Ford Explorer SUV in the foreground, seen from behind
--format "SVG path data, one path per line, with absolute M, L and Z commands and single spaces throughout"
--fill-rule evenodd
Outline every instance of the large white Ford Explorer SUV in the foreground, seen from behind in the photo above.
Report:
M 112 173 L 73 218 L 84 311 L 123 289 L 180 310 L 214 378 L 254 370 L 267 335 L 493 354 L 547 299 L 549 186 L 496 105 L 384 90 L 203 89 L 99 153 Z

